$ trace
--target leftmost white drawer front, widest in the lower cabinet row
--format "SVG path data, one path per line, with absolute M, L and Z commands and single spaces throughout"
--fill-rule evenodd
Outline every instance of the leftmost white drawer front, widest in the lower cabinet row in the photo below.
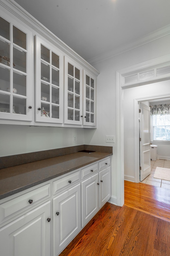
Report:
M 0 205 L 0 223 L 50 197 L 50 184 L 34 189 Z M 29 200 L 31 200 L 29 202 Z M 32 202 L 32 203 L 31 203 Z

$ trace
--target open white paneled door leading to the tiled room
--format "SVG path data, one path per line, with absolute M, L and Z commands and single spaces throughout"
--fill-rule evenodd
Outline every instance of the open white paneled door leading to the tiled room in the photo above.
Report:
M 150 107 L 140 103 L 140 181 L 151 173 Z

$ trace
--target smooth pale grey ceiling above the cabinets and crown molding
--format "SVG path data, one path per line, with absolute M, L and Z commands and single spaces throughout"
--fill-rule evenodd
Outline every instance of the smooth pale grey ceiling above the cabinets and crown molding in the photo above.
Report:
M 169 0 L 15 0 L 92 62 L 170 24 Z

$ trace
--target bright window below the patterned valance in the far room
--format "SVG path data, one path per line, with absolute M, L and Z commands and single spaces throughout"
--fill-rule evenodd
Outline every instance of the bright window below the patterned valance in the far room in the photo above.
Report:
M 153 140 L 170 141 L 170 115 L 152 115 Z

